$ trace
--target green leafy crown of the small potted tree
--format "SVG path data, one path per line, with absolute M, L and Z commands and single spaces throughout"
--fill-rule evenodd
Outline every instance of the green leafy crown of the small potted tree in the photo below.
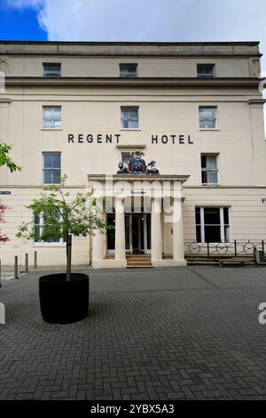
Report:
M 36 221 L 23 223 L 17 237 L 40 241 L 59 241 L 61 237 L 71 234 L 74 237 L 86 237 L 95 229 L 106 231 L 111 227 L 102 221 L 101 209 L 95 201 L 90 202 L 89 195 L 76 193 L 71 200 L 70 193 L 64 191 L 66 175 L 59 185 L 44 188 L 41 197 L 36 198 L 27 208 L 35 220 L 43 216 L 43 226 L 40 229 Z M 90 202 L 90 203 L 89 203 Z

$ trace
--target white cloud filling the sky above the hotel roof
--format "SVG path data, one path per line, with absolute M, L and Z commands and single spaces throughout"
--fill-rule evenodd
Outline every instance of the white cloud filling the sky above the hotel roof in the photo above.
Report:
M 265 43 L 265 0 L 5 0 L 37 7 L 49 40 Z

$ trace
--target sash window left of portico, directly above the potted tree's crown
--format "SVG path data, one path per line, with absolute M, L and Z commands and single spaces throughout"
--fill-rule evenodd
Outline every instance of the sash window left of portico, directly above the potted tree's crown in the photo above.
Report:
M 61 154 L 43 152 L 43 184 L 59 184 L 61 177 Z

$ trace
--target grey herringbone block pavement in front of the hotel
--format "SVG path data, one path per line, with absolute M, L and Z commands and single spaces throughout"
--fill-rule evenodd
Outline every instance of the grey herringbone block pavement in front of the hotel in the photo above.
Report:
M 64 326 L 40 316 L 41 271 L 3 282 L 1 400 L 266 399 L 265 268 L 89 273 L 90 316 Z

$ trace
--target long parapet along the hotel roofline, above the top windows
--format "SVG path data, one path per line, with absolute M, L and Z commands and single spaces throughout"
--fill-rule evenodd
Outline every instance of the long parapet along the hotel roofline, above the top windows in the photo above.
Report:
M 106 56 L 261 56 L 252 42 L 46 42 L 0 41 L 0 54 Z

